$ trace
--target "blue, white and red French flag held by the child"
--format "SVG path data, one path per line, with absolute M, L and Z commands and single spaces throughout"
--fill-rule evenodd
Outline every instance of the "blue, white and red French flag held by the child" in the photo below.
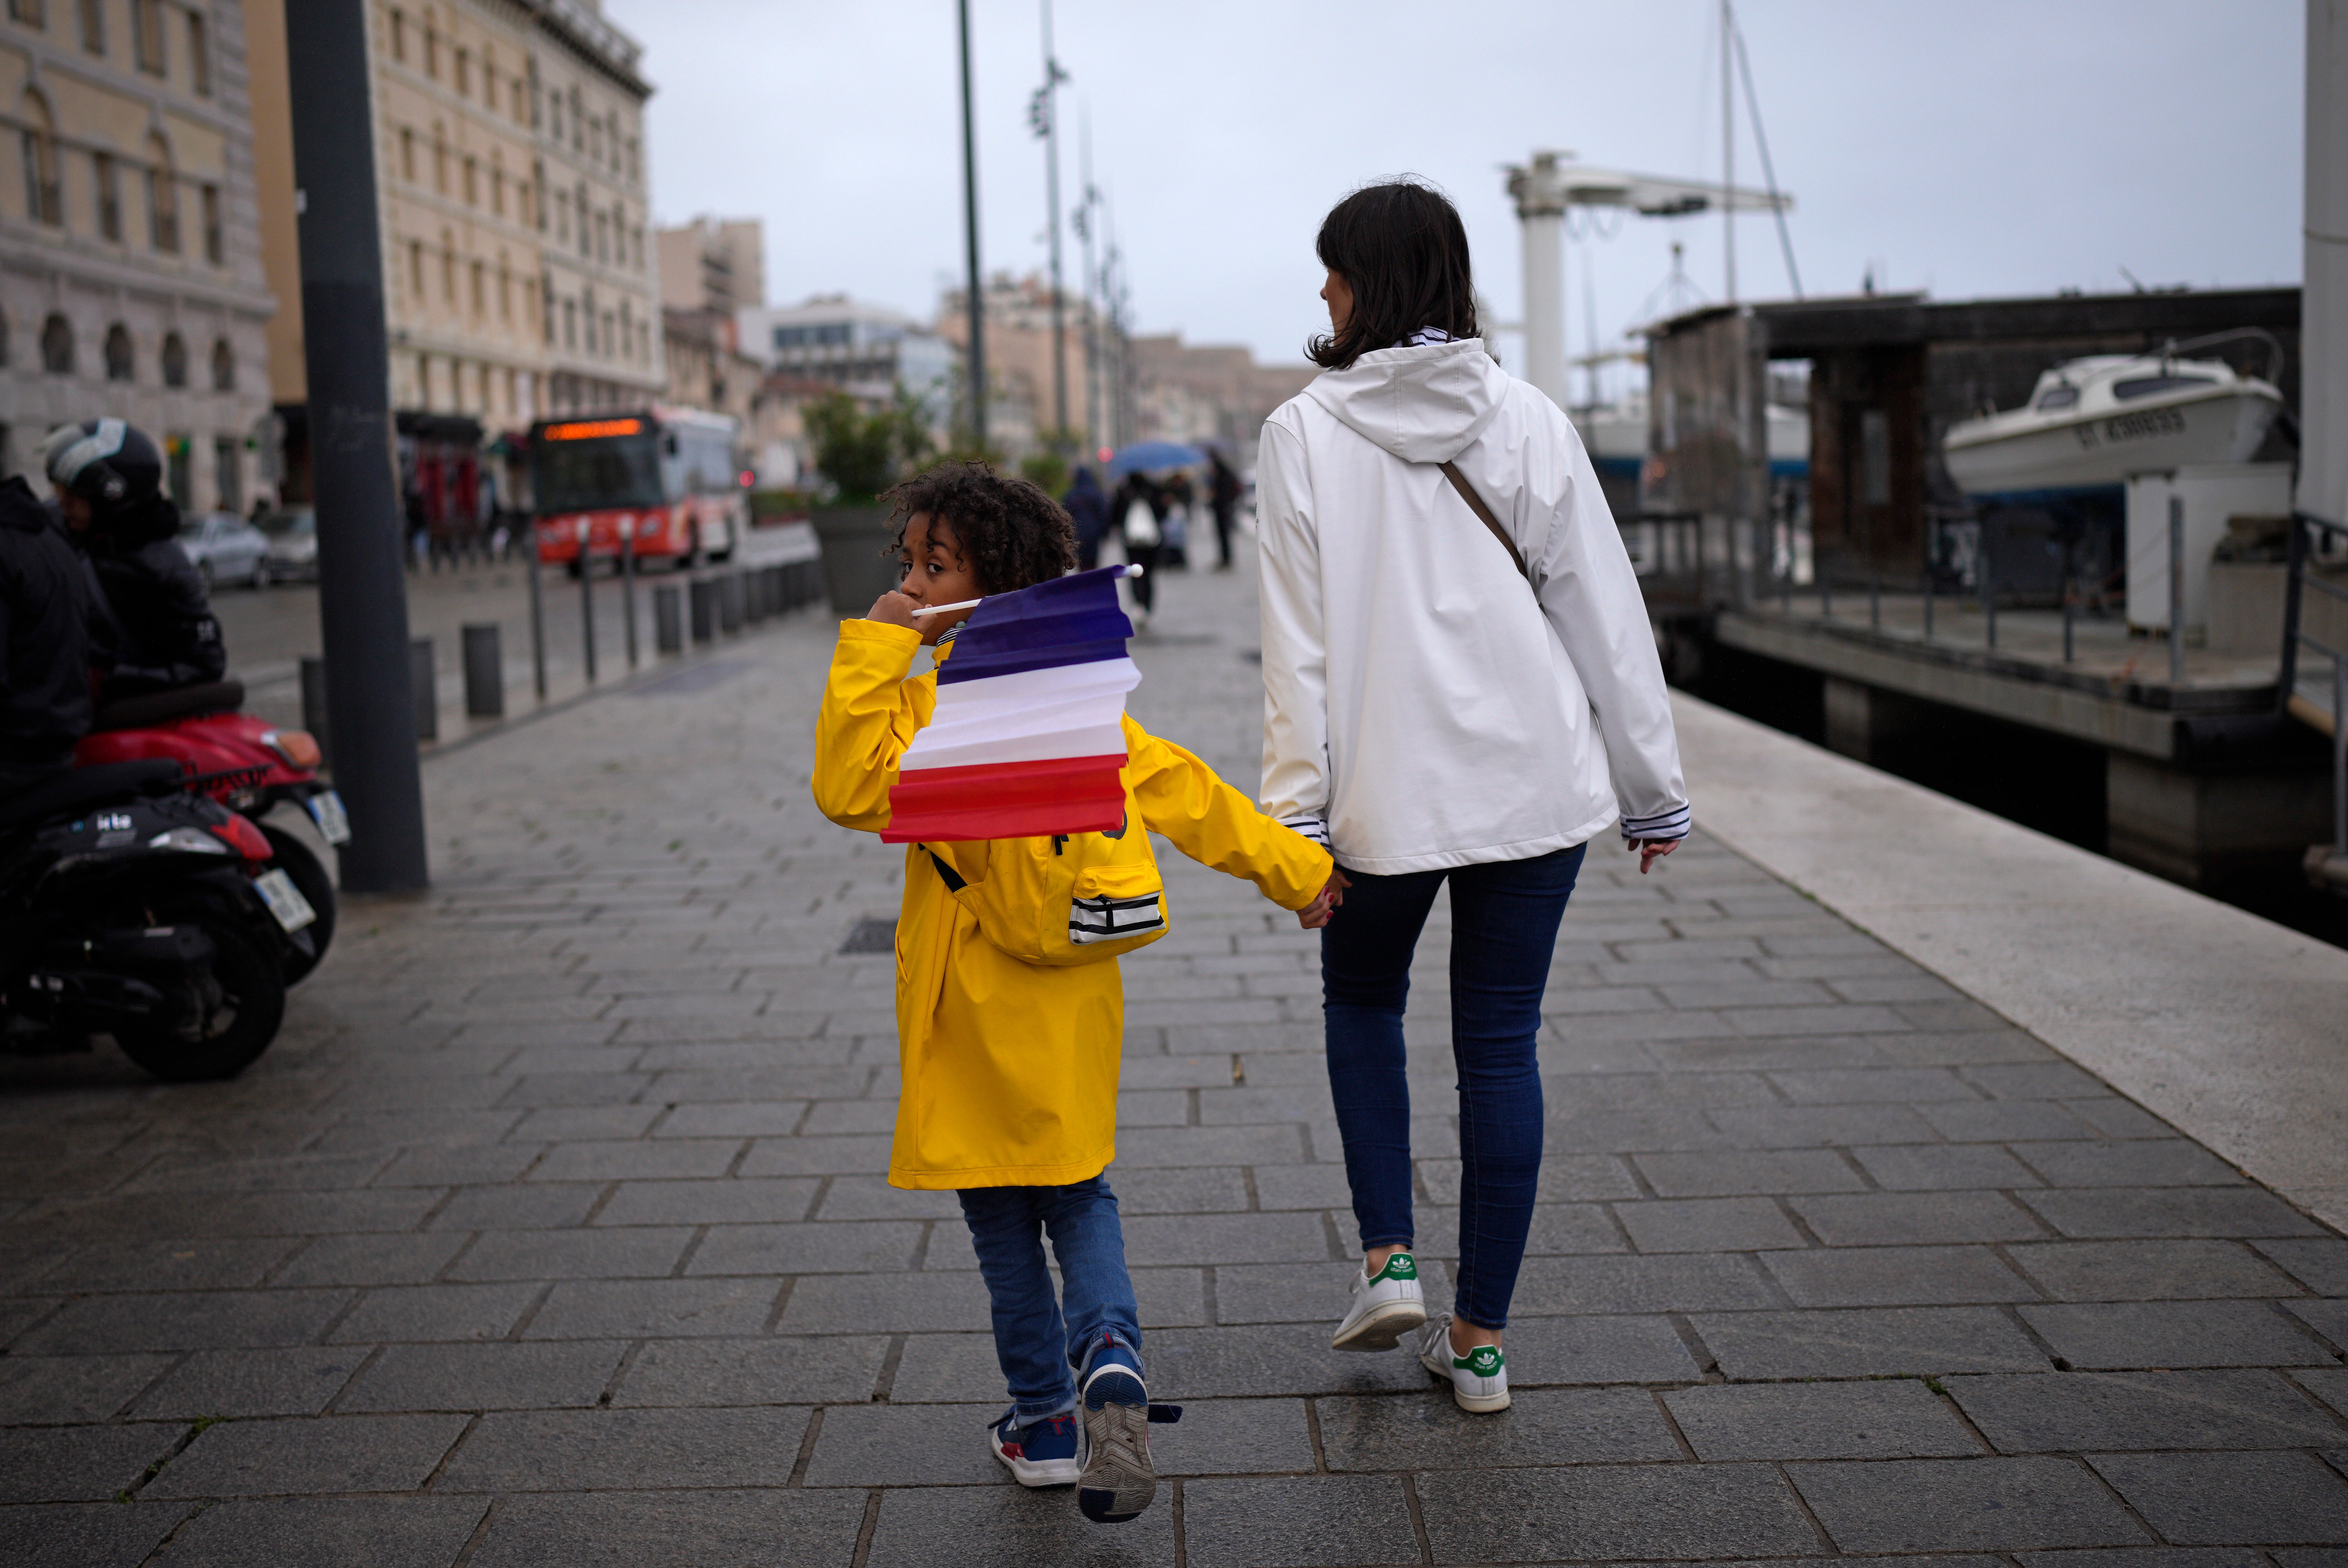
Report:
M 888 793 L 885 843 L 1106 833 L 1125 822 L 1125 655 L 1134 622 L 1104 566 L 970 613 L 937 667 L 937 714 Z

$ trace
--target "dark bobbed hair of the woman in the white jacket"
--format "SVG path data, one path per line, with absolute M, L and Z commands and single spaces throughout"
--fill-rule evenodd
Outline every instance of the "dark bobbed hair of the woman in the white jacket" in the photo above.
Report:
M 1468 228 L 1435 185 L 1411 176 L 1362 185 L 1329 209 L 1313 251 L 1352 289 L 1345 329 L 1305 343 L 1305 359 L 1324 371 L 1395 347 L 1421 326 L 1442 326 L 1453 338 L 1482 336 Z

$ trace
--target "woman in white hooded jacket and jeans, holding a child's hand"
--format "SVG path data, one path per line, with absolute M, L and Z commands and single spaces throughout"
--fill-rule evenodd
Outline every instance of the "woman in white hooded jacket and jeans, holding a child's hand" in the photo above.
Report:
M 1263 810 L 1338 861 L 1322 1014 L 1364 1256 L 1334 1345 L 1409 1336 L 1463 1408 L 1498 1411 L 1557 925 L 1606 824 L 1646 871 L 1688 798 L 1622 538 L 1573 425 L 1484 352 L 1451 202 L 1369 185 L 1315 249 L 1324 373 L 1266 423 L 1256 486 Z M 1460 1261 L 1453 1312 L 1428 1319 L 1402 1007 L 1446 880 Z

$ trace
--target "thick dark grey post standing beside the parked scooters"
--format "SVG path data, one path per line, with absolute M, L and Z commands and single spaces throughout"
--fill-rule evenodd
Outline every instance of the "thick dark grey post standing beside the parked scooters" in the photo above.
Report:
M 286 7 L 294 211 L 301 232 L 317 610 L 333 723 L 333 784 L 350 803 L 348 892 L 425 887 L 409 592 L 392 477 L 383 232 L 364 0 Z

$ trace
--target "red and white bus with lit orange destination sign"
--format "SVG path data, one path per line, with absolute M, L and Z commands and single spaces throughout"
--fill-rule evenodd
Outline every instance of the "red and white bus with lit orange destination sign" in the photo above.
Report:
M 749 474 L 735 465 L 735 420 L 700 408 L 643 408 L 531 425 L 538 559 L 578 570 L 589 556 L 728 559 L 749 533 Z

